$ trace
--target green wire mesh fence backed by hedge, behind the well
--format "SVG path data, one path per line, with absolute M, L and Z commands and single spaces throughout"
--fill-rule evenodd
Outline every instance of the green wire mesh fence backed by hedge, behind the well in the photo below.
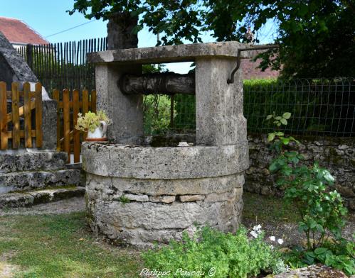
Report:
M 270 113 L 292 113 L 285 131 L 295 135 L 355 135 L 355 79 L 245 80 L 244 116 L 248 131 L 267 133 Z M 152 96 L 146 96 L 152 100 Z M 144 109 L 147 134 L 191 133 L 196 128 L 195 96 L 160 96 L 158 104 Z M 150 111 L 147 113 L 147 111 Z M 172 116 L 171 116 L 171 113 Z M 154 117 L 159 120 L 152 120 Z M 164 117 L 162 119 L 161 117 Z

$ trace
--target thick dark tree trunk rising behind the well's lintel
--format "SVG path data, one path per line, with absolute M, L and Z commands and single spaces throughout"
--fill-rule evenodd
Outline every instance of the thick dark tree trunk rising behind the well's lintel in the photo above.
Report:
M 132 30 L 138 24 L 138 16 L 130 13 L 115 13 L 107 23 L 107 49 L 126 49 L 138 47 L 138 35 Z

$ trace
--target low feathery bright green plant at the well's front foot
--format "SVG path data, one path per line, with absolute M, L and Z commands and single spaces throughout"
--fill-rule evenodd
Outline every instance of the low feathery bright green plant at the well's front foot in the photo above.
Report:
M 183 233 L 181 242 L 173 240 L 169 246 L 149 250 L 142 257 L 149 269 L 166 272 L 165 277 L 184 277 L 179 269 L 198 272 L 191 277 L 209 277 L 208 272 L 214 269 L 213 277 L 218 278 L 250 277 L 273 269 L 285 271 L 277 251 L 263 241 L 264 233 L 257 228 L 252 230 L 252 238 L 248 238 L 245 228 L 235 234 L 201 228 L 192 238 Z

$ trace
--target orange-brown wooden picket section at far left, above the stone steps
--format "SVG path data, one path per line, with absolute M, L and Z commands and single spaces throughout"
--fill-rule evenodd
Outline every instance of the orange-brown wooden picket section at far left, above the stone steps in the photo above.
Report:
M 23 84 L 23 91 L 19 91 L 18 83 L 13 82 L 11 91 L 7 91 L 6 83 L 0 82 L 1 150 L 9 149 L 10 142 L 13 149 L 42 147 L 41 83 L 36 83 L 35 88 L 35 91 L 31 91 L 31 85 L 26 82 Z M 34 113 L 32 112 L 33 110 Z M 35 117 L 34 119 L 33 116 Z M 34 140 L 35 138 L 36 140 Z M 35 146 L 33 146 L 33 140 L 35 141 Z

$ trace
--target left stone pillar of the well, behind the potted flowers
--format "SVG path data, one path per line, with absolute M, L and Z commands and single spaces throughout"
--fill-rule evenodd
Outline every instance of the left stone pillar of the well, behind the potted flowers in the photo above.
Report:
M 107 137 L 116 143 L 134 144 L 143 130 L 143 97 L 122 94 L 117 82 L 121 74 L 141 74 L 142 65 L 96 65 L 97 110 L 112 119 Z

